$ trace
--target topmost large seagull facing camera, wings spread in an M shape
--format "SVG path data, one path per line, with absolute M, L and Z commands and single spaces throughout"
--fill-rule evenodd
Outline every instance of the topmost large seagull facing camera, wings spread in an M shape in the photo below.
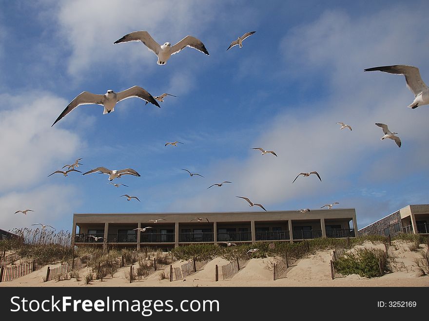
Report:
M 166 42 L 161 46 L 154 40 L 154 38 L 151 37 L 151 35 L 149 35 L 147 31 L 135 31 L 116 40 L 114 44 L 128 41 L 143 42 L 143 44 L 158 57 L 158 61 L 156 61 L 158 65 L 165 65 L 171 55 L 178 53 L 185 47 L 194 48 L 209 56 L 209 52 L 206 47 L 204 47 L 204 44 L 199 39 L 192 36 L 186 36 L 173 46 L 170 42 Z

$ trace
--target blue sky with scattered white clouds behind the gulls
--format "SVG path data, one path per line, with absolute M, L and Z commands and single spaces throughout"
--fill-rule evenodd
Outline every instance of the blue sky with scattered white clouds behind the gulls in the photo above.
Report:
M 407 64 L 429 81 L 428 2 L 266 2 L 4 2 L 0 228 L 71 229 L 75 212 L 249 210 L 236 195 L 268 210 L 339 202 L 356 208 L 361 228 L 428 203 L 429 107 L 407 108 L 403 76 L 363 72 Z M 113 44 L 138 30 L 158 43 L 195 36 L 210 56 L 185 48 L 159 66 L 142 43 Z M 248 31 L 243 48 L 226 51 Z M 80 106 L 51 127 L 82 91 L 135 85 L 177 97 L 160 109 L 127 99 L 107 115 Z M 400 149 L 380 141 L 376 122 L 399 133 Z M 184 145 L 164 147 L 175 140 Z M 47 177 L 80 157 L 78 170 L 131 167 L 141 177 L 115 180 L 129 186 L 118 189 L 106 175 Z M 292 185 L 312 170 L 322 182 Z M 233 183 L 207 189 L 222 181 Z M 34 212 L 14 214 L 26 208 Z

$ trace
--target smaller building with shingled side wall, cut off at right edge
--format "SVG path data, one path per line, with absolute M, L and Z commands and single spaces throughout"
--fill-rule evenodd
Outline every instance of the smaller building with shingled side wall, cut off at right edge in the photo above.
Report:
M 390 235 L 399 233 L 429 235 L 429 204 L 408 205 L 358 230 L 358 235 Z

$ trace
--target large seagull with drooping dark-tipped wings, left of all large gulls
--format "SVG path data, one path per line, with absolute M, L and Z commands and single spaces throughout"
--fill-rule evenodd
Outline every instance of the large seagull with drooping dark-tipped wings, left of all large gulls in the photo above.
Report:
M 59 121 L 62 117 L 64 117 L 66 114 L 70 113 L 72 110 L 74 110 L 80 105 L 96 104 L 104 106 L 104 115 L 106 113 L 114 112 L 115 106 L 119 101 L 131 97 L 141 98 L 161 108 L 151 94 L 149 94 L 146 90 L 138 86 L 128 88 L 119 93 L 115 93 L 111 89 L 109 89 L 106 94 L 93 94 L 90 92 L 82 92 L 78 94 L 78 96 L 73 99 L 70 104 L 68 104 L 68 106 L 62 111 L 62 113 L 58 116 L 57 120 L 52 124 L 52 126 L 54 126 L 55 123 Z

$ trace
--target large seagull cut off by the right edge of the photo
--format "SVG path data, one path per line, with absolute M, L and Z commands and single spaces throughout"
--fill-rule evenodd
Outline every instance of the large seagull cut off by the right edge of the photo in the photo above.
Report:
M 389 74 L 404 75 L 408 89 L 414 94 L 414 101 L 408 106 L 417 108 L 429 104 L 429 88 L 423 82 L 419 69 L 414 66 L 394 65 L 364 69 L 364 71 L 382 71 Z

